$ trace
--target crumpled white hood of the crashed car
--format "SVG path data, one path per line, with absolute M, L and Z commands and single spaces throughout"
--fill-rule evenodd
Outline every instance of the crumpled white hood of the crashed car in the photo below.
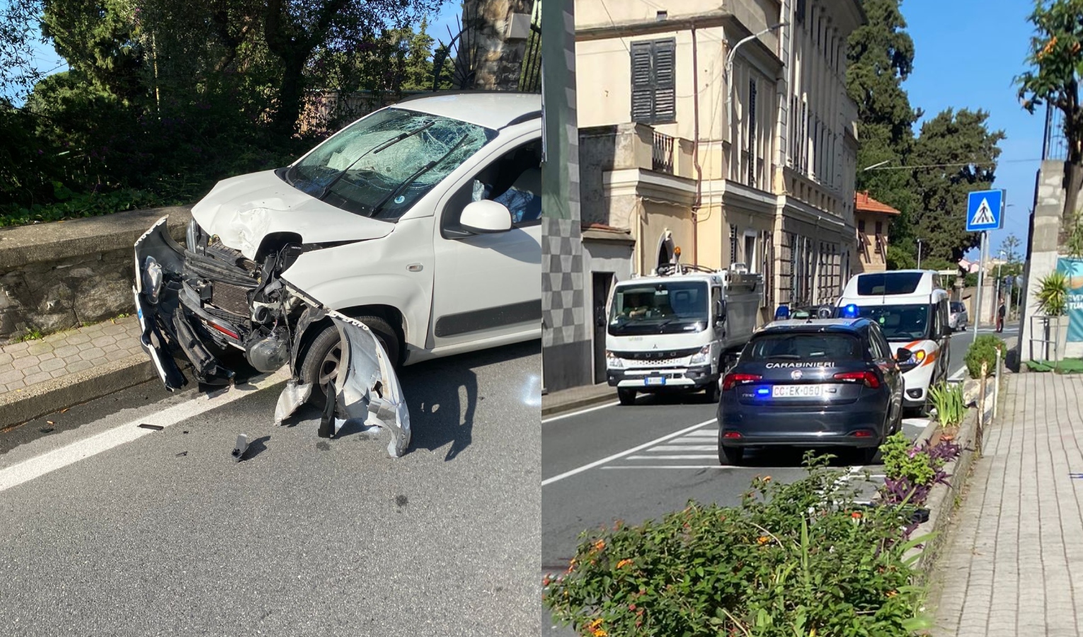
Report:
M 222 180 L 192 208 L 205 232 L 256 259 L 263 237 L 289 232 L 301 243 L 366 240 L 387 236 L 395 225 L 325 204 L 283 181 L 274 170 Z

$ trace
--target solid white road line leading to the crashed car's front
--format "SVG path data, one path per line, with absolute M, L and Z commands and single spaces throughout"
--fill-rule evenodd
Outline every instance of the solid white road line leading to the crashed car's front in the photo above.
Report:
M 190 401 L 173 405 L 157 414 L 143 416 L 136 420 L 119 425 L 101 433 L 47 452 L 40 456 L 0 469 L 0 492 L 23 484 L 24 482 L 29 482 L 35 478 L 39 478 L 56 469 L 62 469 L 95 454 L 120 446 L 126 442 L 131 442 L 156 432 L 154 429 L 144 429 L 140 425 L 170 427 L 193 416 L 198 416 L 216 407 L 232 403 L 237 399 L 251 395 L 253 390 L 266 389 L 288 378 L 288 368 L 283 367 L 274 375 L 264 377 L 256 382 L 244 384 L 224 392 L 219 390 L 212 393 L 199 394 Z M 269 414 L 268 422 L 270 421 L 271 417 Z M 227 450 L 223 448 L 222 457 L 225 458 L 226 455 Z

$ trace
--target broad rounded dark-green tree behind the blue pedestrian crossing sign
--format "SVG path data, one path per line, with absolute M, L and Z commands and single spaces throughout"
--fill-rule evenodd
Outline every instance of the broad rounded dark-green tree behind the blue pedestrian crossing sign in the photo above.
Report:
M 967 193 L 992 185 L 996 144 L 1004 139 L 1004 131 L 989 131 L 988 119 L 984 110 L 947 108 L 922 125 L 914 142 L 911 187 L 918 204 L 912 223 L 930 259 L 955 262 L 979 243 L 978 234 L 966 232 Z

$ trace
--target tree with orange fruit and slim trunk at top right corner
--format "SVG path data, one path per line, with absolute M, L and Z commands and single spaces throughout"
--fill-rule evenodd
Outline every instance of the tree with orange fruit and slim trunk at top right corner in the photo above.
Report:
M 1015 78 L 1022 107 L 1030 113 L 1048 104 L 1064 113 L 1068 142 L 1065 162 L 1065 208 L 1058 243 L 1064 246 L 1078 230 L 1078 200 L 1083 186 L 1083 0 L 1035 0 L 1030 14 L 1034 36 L 1026 62 L 1031 68 Z

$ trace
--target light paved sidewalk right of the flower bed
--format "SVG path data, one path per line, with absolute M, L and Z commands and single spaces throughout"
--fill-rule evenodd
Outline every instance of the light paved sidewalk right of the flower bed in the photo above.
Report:
M 1083 375 L 1006 384 L 934 573 L 932 634 L 1083 635 Z

